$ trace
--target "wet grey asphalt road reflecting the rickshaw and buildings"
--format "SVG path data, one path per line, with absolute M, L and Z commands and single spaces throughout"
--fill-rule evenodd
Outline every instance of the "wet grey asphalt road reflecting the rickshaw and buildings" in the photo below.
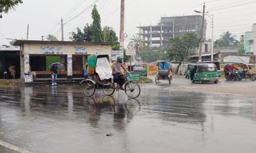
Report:
M 0 152 L 13 152 L 1 142 L 28 152 L 255 152 L 256 95 L 175 89 L 185 84 L 141 85 L 138 100 L 1 87 Z

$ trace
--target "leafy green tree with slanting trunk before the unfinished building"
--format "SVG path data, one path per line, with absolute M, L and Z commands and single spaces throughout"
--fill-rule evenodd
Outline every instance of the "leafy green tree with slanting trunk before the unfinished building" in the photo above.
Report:
M 171 40 L 170 48 L 167 54 L 171 60 L 179 62 L 179 66 L 175 70 L 175 74 L 178 73 L 180 65 L 189 55 L 195 54 L 196 48 L 198 48 L 200 38 L 196 33 L 187 33 L 184 36 L 175 37 Z

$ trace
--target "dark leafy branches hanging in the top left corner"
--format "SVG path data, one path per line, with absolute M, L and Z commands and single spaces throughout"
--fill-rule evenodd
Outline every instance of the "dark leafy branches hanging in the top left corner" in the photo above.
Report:
M 22 4 L 22 0 L 1 0 L 0 1 L 0 18 L 3 17 L 3 12 L 8 13 L 10 10 L 14 10 L 15 6 Z

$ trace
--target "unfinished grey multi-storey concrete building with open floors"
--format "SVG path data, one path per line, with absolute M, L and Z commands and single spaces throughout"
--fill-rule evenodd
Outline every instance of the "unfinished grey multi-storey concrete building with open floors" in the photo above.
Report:
M 205 20 L 204 38 L 206 25 Z M 143 37 L 145 44 L 150 47 L 152 45 L 168 46 L 170 44 L 170 38 L 174 38 L 175 36 L 183 36 L 185 33 L 192 31 L 201 34 L 202 16 L 161 17 L 157 25 L 141 26 L 138 28 L 140 30 L 138 34 Z

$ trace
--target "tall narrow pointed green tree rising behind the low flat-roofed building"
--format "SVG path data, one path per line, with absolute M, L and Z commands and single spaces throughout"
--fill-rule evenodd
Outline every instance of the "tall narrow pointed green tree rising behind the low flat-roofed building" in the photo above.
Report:
M 97 10 L 97 6 L 93 6 L 92 10 L 92 41 L 93 42 L 102 42 L 102 31 L 101 31 L 101 25 L 100 25 L 100 15 Z

